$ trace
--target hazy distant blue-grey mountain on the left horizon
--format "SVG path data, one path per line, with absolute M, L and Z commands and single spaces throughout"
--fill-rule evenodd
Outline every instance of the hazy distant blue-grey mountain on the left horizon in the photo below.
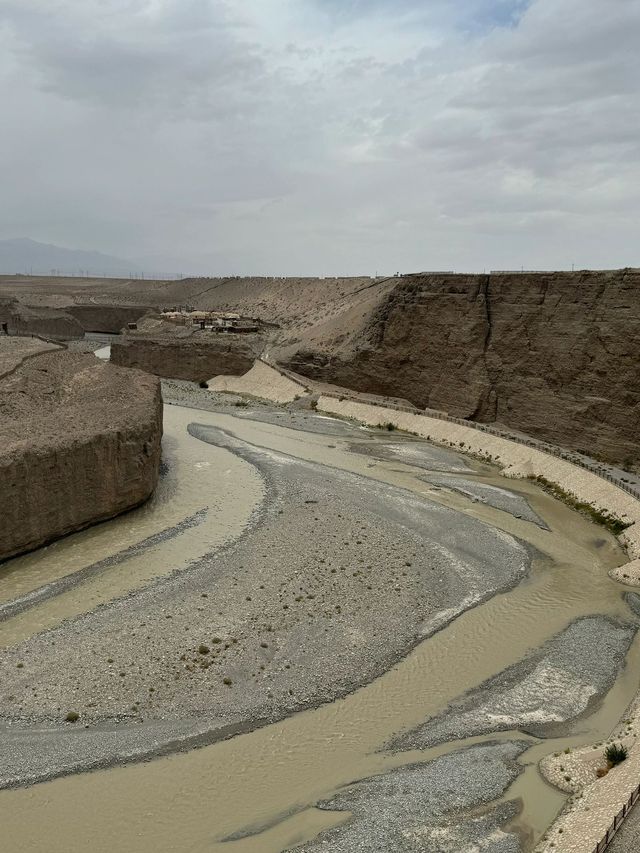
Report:
M 27 275 L 85 275 L 121 276 L 140 273 L 140 267 L 131 261 L 87 252 L 63 249 L 48 243 L 38 243 L 28 237 L 0 240 L 0 273 Z

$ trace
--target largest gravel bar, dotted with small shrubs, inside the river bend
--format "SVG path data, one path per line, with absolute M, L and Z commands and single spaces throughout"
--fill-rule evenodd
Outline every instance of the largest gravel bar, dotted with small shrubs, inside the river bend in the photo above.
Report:
M 191 568 L 7 649 L 5 721 L 282 718 L 371 681 L 425 625 L 527 574 L 526 548 L 476 519 L 212 427 L 190 432 L 259 468 L 261 514 Z

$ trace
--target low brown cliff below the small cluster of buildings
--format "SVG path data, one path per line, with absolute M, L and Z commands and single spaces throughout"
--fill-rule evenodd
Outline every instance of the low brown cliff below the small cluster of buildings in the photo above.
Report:
M 215 334 L 177 338 L 124 335 L 111 344 L 111 361 L 170 379 L 206 381 L 214 376 L 241 375 L 262 350 L 256 335 Z

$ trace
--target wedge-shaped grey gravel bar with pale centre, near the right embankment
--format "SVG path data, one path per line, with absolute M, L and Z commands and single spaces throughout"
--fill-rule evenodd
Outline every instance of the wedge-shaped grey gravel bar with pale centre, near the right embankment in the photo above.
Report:
M 391 747 L 424 748 L 511 729 L 559 737 L 563 724 L 589 713 L 610 689 L 635 632 L 604 616 L 579 619 Z

